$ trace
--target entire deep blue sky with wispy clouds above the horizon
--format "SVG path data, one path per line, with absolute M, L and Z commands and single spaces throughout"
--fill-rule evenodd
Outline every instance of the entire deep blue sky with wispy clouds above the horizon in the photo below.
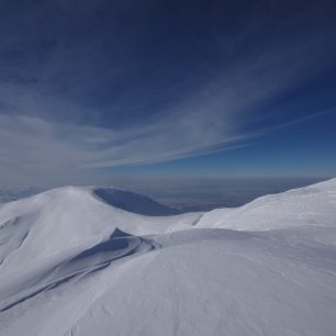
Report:
M 336 2 L 0 1 L 0 186 L 336 176 Z

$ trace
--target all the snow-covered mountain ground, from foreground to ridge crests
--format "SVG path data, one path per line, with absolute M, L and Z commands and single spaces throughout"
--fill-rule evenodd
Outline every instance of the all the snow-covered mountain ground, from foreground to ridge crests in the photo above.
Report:
M 171 214 L 96 188 L 0 205 L 0 335 L 335 336 L 336 179 Z

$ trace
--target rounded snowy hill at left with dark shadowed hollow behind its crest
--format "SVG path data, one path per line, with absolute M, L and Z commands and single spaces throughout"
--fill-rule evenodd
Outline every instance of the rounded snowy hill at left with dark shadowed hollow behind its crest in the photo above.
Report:
M 96 191 L 94 188 L 66 187 L 0 205 L 2 269 L 15 262 L 40 262 L 69 249 L 93 246 L 107 239 L 115 227 L 135 235 L 159 233 L 190 227 L 200 216 L 144 216 L 108 204 L 97 197 Z M 164 205 L 160 208 L 147 198 L 109 191 L 114 203 L 116 195 L 122 195 L 120 203 L 127 204 L 131 194 L 132 206 L 128 208 L 135 209 L 138 199 L 146 212 L 153 205 L 152 213 L 160 210 L 168 213 Z

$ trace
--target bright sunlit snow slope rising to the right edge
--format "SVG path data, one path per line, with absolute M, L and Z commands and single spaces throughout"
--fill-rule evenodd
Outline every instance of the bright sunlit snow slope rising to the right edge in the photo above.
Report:
M 336 179 L 269 194 L 233 209 L 204 214 L 198 227 L 265 231 L 306 225 L 336 225 Z

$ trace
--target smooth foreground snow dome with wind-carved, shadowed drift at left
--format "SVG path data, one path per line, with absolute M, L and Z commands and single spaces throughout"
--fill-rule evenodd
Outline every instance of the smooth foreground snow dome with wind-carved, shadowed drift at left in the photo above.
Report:
M 0 325 L 7 336 L 332 336 L 335 268 L 335 248 L 277 232 L 116 233 L 52 270 L 2 278 Z

